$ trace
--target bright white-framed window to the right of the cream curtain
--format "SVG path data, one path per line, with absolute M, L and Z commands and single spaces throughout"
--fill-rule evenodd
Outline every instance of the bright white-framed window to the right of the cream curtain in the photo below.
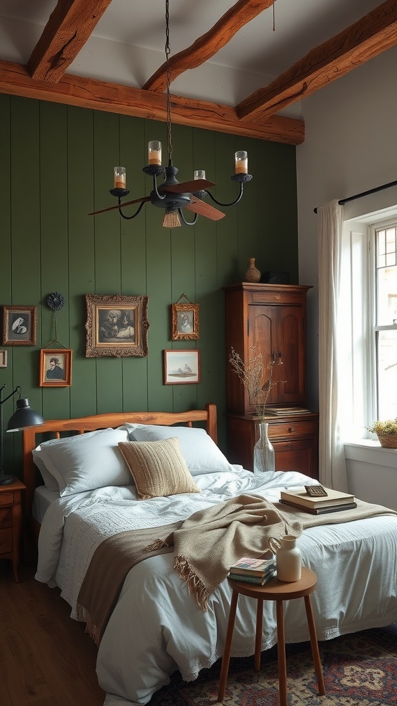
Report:
M 345 221 L 340 277 L 342 436 L 375 438 L 367 426 L 397 417 L 397 209 Z

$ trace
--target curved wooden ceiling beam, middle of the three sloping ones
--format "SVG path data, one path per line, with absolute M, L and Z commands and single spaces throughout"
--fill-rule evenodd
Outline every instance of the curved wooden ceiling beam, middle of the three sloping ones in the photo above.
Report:
M 198 37 L 191 44 L 191 47 L 184 49 L 182 52 L 170 56 L 168 65 L 170 68 L 170 83 L 180 76 L 181 73 L 187 71 L 188 68 L 197 68 L 201 66 L 211 56 L 214 56 L 220 49 L 225 47 L 228 42 L 235 36 L 236 32 L 244 25 L 247 25 L 251 20 L 261 14 L 263 10 L 273 5 L 273 0 L 238 0 L 218 22 L 208 30 L 206 34 Z M 153 76 L 151 76 L 143 85 L 143 90 L 151 90 L 158 93 L 165 91 L 167 86 L 166 63 L 158 68 Z

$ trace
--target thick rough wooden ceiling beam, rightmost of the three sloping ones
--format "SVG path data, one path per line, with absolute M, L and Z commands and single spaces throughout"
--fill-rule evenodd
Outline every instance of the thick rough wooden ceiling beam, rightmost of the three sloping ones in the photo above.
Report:
M 387 0 L 336 37 L 312 49 L 266 88 L 237 105 L 242 120 L 263 121 L 324 88 L 397 44 L 397 3 Z

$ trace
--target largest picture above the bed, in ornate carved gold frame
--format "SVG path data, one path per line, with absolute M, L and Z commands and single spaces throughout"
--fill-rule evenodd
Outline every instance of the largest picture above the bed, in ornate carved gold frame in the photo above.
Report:
M 86 358 L 148 356 L 148 297 L 86 294 Z

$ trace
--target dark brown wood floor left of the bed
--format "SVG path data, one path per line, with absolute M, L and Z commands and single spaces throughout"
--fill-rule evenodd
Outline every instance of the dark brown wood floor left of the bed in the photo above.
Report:
M 83 623 L 71 620 L 58 589 L 0 560 L 0 704 L 4 706 L 102 706 L 97 648 Z

